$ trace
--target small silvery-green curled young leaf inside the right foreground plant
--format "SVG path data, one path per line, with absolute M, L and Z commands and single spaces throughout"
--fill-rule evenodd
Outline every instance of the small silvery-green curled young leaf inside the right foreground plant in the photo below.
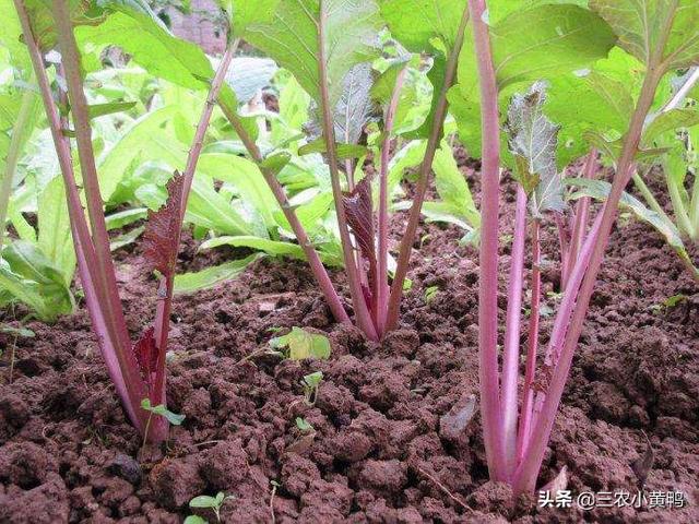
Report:
M 532 194 L 532 213 L 562 212 L 564 184 L 556 166 L 558 126 L 543 112 L 546 85 L 536 82 L 525 95 L 514 95 L 507 114 L 508 146 L 516 157 L 517 177 Z

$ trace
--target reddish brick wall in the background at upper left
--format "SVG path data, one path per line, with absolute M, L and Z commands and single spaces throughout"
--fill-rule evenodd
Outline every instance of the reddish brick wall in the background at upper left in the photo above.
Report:
M 191 14 L 183 15 L 173 9 L 168 15 L 175 35 L 199 44 L 209 55 L 216 55 L 226 48 L 223 27 L 213 21 L 218 12 L 214 0 L 192 0 Z

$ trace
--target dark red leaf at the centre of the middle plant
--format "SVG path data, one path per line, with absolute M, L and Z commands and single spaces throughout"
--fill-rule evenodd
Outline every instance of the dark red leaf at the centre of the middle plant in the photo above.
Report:
M 374 245 L 374 210 L 371 205 L 371 181 L 363 178 L 351 193 L 345 193 L 342 204 L 347 215 L 347 224 L 354 234 L 362 257 L 369 263 L 369 287 L 376 282 L 376 248 Z

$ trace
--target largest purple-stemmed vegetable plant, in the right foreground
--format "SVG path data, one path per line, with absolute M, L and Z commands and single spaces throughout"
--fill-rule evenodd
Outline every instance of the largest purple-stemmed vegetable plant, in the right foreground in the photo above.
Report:
M 543 366 L 536 367 L 538 325 L 537 281 L 532 272 L 532 306 L 526 349 L 522 403 L 518 402 L 520 379 L 520 314 L 523 287 L 523 253 L 526 238 L 528 204 L 534 215 L 559 212 L 562 206 L 561 177 L 556 166 L 557 127 L 546 118 L 543 106 L 545 85 L 535 83 L 525 94 L 514 96 L 506 126 L 513 175 L 520 182 L 517 195 L 514 239 L 508 288 L 508 310 L 502 352 L 498 364 L 498 211 L 501 158 L 499 93 L 508 85 L 503 72 L 512 73 L 517 60 L 503 60 L 506 43 L 490 13 L 486 10 L 501 4 L 497 1 L 469 0 L 473 21 L 473 60 L 477 66 L 479 108 L 482 118 L 483 198 L 481 234 L 479 288 L 479 378 L 484 441 L 488 469 L 494 480 L 509 483 L 516 493 L 535 488 L 538 471 L 554 425 L 554 419 L 568 377 L 576 346 L 582 330 L 604 251 L 615 222 L 624 189 L 632 177 L 652 126 L 644 128 L 659 86 L 675 70 L 699 63 L 699 33 L 694 21 L 699 7 L 690 1 L 607 1 L 592 0 L 590 9 L 597 13 L 616 35 L 620 52 L 641 63 L 642 84 L 631 102 L 630 118 L 621 136 L 608 145 L 614 153 L 615 175 L 603 209 L 584 236 L 577 260 L 564 289 Z M 559 8 L 557 8 L 559 9 Z M 576 8 L 579 9 L 579 8 Z M 526 16 L 530 11 L 512 16 Z M 592 13 L 590 13 L 592 15 Z M 587 14 L 584 16 L 588 16 Z M 592 19 L 589 19 L 592 20 Z M 600 22 L 601 23 L 601 22 Z M 600 31 L 604 31 L 601 25 Z M 560 36 L 560 31 L 559 31 Z M 536 46 L 530 47 L 535 50 Z M 557 53 L 549 57 L 557 66 L 574 67 L 578 56 Z M 601 58 L 601 57 L 600 57 Z M 544 62 L 545 64 L 545 62 Z M 506 67 L 507 66 L 507 67 Z M 526 69 L 526 68 L 525 68 Z M 532 68 L 533 69 L 533 68 Z M 542 68 L 543 69 L 543 68 Z M 531 71 L 530 71 L 531 72 Z M 524 70 L 526 73 L 526 70 Z M 537 72 L 540 78 L 547 75 Z M 526 73 L 529 74 L 529 73 Z M 536 80 L 536 79 L 533 79 Z M 552 96 L 556 85 L 552 88 Z M 662 90 L 661 90 L 662 93 Z M 572 104 L 569 100 L 569 104 Z M 591 140 L 594 145 L 599 140 Z M 558 145 L 556 145 L 558 143 Z M 513 157 L 513 158 L 512 158 Z M 558 188 L 550 190 L 552 188 Z M 532 252 L 537 260 L 540 239 L 534 225 Z

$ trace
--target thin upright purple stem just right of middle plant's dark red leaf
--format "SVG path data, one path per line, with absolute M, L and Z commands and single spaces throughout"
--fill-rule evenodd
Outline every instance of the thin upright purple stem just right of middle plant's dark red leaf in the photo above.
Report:
M 389 158 L 391 154 L 391 132 L 395 120 L 395 111 L 401 99 L 401 90 L 405 80 L 405 68 L 401 70 L 395 79 L 395 86 L 391 95 L 391 102 L 386 111 L 383 124 L 383 143 L 381 144 L 381 170 L 379 171 L 379 252 L 377 269 L 377 320 L 379 336 L 386 330 L 386 317 L 389 306 Z

